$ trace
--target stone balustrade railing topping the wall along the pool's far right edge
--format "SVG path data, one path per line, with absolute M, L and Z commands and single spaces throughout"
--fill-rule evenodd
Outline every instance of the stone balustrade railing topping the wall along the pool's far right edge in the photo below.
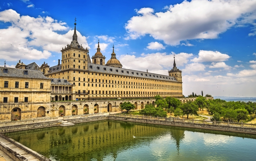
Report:
M 241 123 L 230 123 L 228 122 L 221 122 L 221 121 L 205 121 L 205 120 L 194 120 L 194 119 L 180 119 L 176 117 L 151 117 L 151 116 L 135 116 L 135 115 L 128 115 L 128 114 L 109 114 L 111 117 L 121 117 L 121 118 L 132 118 L 132 119 L 148 119 L 148 120 L 160 120 L 160 121 L 170 121 L 175 123 L 191 123 L 191 124 L 208 124 L 208 125 L 216 125 L 216 126 L 230 126 L 230 127 L 244 127 L 244 128 L 256 128 L 256 124 L 244 124 Z

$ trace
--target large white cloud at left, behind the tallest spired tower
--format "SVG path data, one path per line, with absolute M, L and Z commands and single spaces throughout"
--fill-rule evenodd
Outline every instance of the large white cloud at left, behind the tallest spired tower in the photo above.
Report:
M 0 29 L 0 56 L 8 61 L 48 58 L 50 51 L 60 52 L 74 33 L 65 22 L 58 22 L 49 16 L 20 16 L 13 9 L 0 12 L 0 21 L 11 23 L 7 28 Z M 57 33 L 66 30 L 69 30 L 66 34 Z M 84 47 L 88 46 L 86 37 L 79 31 L 76 34 L 78 42 Z

